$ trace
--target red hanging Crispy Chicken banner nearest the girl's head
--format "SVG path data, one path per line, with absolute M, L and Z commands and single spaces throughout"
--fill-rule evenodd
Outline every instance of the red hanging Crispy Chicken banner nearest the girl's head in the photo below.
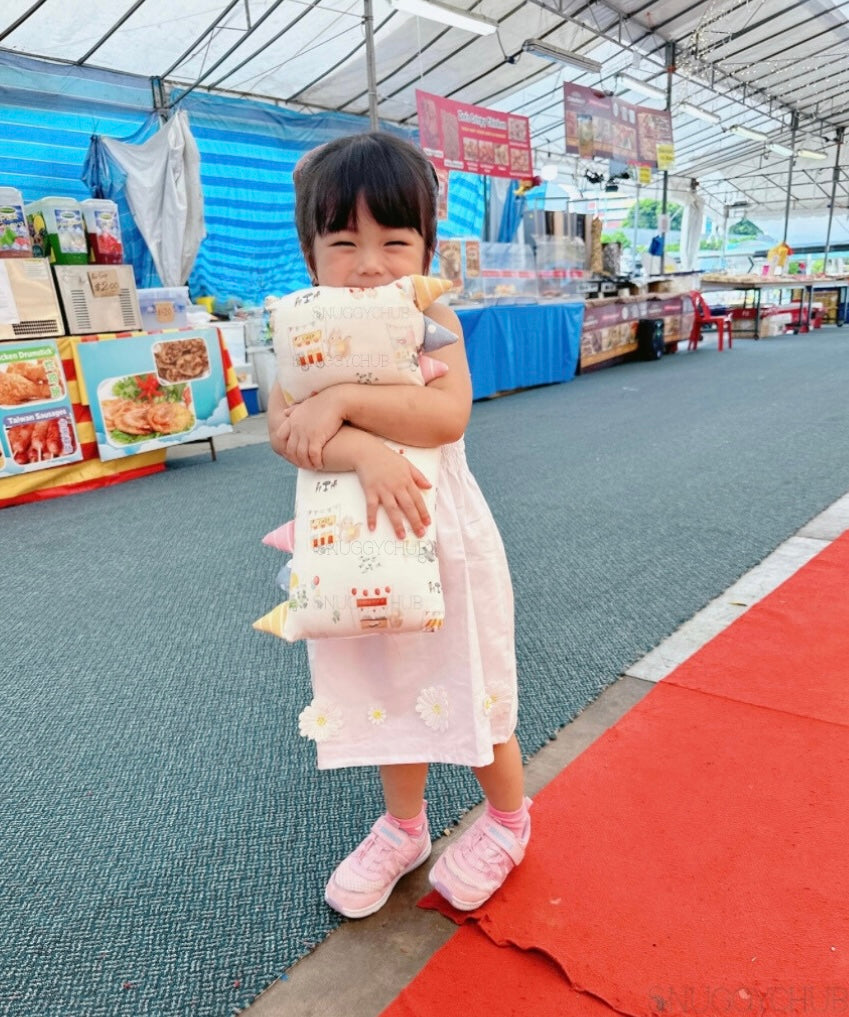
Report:
M 437 167 L 524 180 L 533 175 L 528 117 L 416 91 L 419 141 Z

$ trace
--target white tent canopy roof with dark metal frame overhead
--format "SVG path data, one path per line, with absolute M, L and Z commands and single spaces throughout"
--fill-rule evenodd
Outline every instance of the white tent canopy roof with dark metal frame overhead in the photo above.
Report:
M 454 0 L 498 23 L 478 37 L 373 0 L 381 120 L 416 125 L 417 88 L 530 117 L 535 165 L 554 163 L 586 188 L 586 164 L 566 155 L 562 83 L 663 106 L 621 74 L 665 91 L 672 74 L 673 183 L 696 177 L 715 215 L 740 201 L 781 216 L 846 218 L 849 21 L 840 0 Z M 266 98 L 303 112 L 366 114 L 363 0 L 5 0 L 2 48 L 131 72 L 170 88 Z M 587 72 L 522 52 L 540 38 L 602 64 Z M 162 82 L 162 92 L 157 91 Z M 688 112 L 707 111 L 719 123 Z M 795 125 L 795 126 L 794 126 Z M 742 136 L 737 129 L 761 136 Z M 814 159 L 800 154 L 818 153 Z M 791 153 L 796 155 L 791 157 Z M 792 163 L 792 173 L 791 173 Z M 790 192 L 788 204 L 788 187 Z

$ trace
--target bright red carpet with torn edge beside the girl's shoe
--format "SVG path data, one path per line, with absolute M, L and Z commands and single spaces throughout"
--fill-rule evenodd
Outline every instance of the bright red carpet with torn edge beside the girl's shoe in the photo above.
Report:
M 536 798 L 382 1017 L 849 1015 L 849 533 Z

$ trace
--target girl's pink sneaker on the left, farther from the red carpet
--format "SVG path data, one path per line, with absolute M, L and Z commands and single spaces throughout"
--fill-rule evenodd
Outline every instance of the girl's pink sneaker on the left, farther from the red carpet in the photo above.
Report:
M 324 889 L 324 900 L 346 918 L 374 914 L 401 877 L 427 858 L 430 846 L 426 823 L 421 836 L 412 837 L 384 813 L 362 844 L 337 866 Z

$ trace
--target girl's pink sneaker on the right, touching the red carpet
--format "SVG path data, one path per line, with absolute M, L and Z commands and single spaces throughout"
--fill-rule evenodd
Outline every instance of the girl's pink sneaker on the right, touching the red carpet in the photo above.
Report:
M 531 804 L 529 798 L 525 799 Z M 430 885 L 461 911 L 485 904 L 525 857 L 531 837 L 531 817 L 521 837 L 491 816 L 477 820 L 445 848 L 430 871 Z

